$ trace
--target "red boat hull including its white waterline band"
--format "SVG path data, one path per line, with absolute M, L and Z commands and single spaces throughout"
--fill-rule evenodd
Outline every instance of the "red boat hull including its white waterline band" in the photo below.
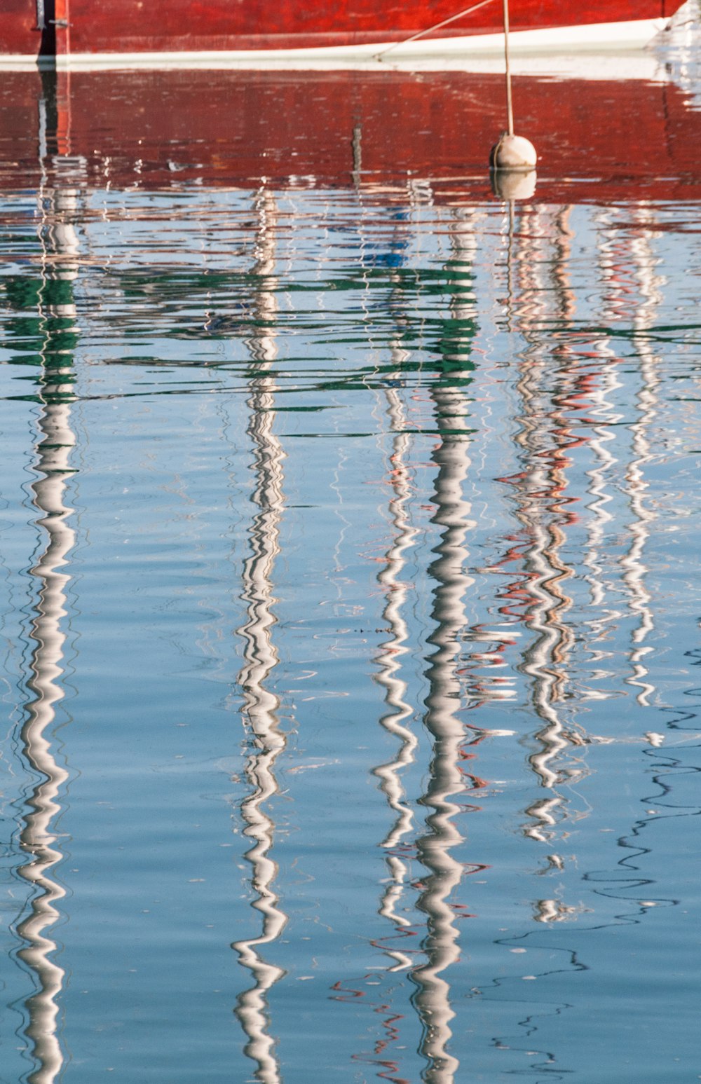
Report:
M 511 0 L 514 48 L 577 50 L 645 44 L 680 0 Z M 10 0 L 0 55 L 58 67 L 85 64 L 216 64 L 290 59 L 373 60 L 405 54 L 499 52 L 500 0 L 285 0 L 275 9 L 231 0 L 170 0 L 166 8 L 114 0 Z

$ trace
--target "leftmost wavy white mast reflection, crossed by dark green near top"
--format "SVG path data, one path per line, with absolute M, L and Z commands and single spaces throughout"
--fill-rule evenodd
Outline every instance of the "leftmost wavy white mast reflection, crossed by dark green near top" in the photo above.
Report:
M 34 506 L 40 516 L 43 549 L 29 575 L 37 584 L 34 616 L 29 629 L 33 644 L 27 689 L 31 699 L 21 732 L 24 757 L 40 777 L 27 805 L 20 834 L 23 851 L 30 860 L 18 869 L 33 887 L 35 895 L 26 918 L 17 925 L 25 945 L 17 956 L 31 969 L 38 989 L 26 1001 L 28 1022 L 25 1035 L 31 1043 L 36 1068 L 30 1084 L 52 1084 L 64 1066 L 64 1053 L 58 1035 L 58 998 L 63 990 L 65 970 L 55 962 L 55 941 L 48 929 L 60 917 L 59 902 L 65 889 L 53 878 L 53 867 L 63 854 L 56 844 L 53 827 L 61 812 L 59 801 L 68 778 L 67 770 L 55 757 L 49 727 L 55 721 L 56 705 L 63 699 L 64 647 L 67 617 L 66 591 L 71 576 L 66 571 L 68 554 L 75 544 L 69 525 L 73 508 L 64 504 L 66 480 L 73 474 L 71 453 L 75 435 L 71 428 L 73 384 L 73 346 L 75 345 L 76 307 L 73 282 L 78 275 L 78 236 L 72 221 L 78 206 L 79 189 L 73 177 L 75 162 L 54 159 L 54 188 L 44 183 L 39 191 L 41 222 L 41 282 L 38 291 L 38 317 L 42 375 L 38 398 L 41 403 L 36 446 L 37 477 L 30 486 Z M 74 183 L 69 183 L 71 180 Z

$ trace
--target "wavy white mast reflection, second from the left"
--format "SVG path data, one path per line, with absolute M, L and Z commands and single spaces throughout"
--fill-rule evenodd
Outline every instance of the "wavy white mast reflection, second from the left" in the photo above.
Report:
M 263 188 L 256 196 L 258 230 L 254 273 L 256 327 L 247 340 L 256 375 L 251 382 L 247 400 L 253 472 L 255 476 L 252 503 L 256 508 L 248 531 L 250 554 L 243 566 L 241 597 L 246 606 L 246 621 L 239 630 L 244 641 L 244 663 L 239 674 L 243 695 L 244 722 L 250 727 L 253 751 L 244 773 L 251 793 L 241 804 L 245 822 L 244 835 L 252 840 L 245 859 L 252 869 L 252 888 L 256 899 L 252 907 L 263 920 L 258 937 L 235 941 L 239 963 L 251 971 L 254 984 L 241 993 L 234 1012 L 246 1035 L 244 1051 L 256 1063 L 255 1079 L 262 1084 L 279 1084 L 282 1076 L 270 1034 L 268 992 L 284 970 L 269 964 L 263 956 L 263 945 L 276 941 L 288 921 L 279 906 L 273 885 L 278 867 L 271 852 L 275 822 L 267 803 L 278 792 L 275 764 L 285 747 L 285 737 L 278 720 L 279 699 L 268 688 L 278 664 L 278 651 L 272 638 L 276 624 L 272 575 L 280 552 L 280 520 L 284 507 L 284 452 L 275 433 L 275 379 L 268 375 L 277 358 L 275 319 L 277 298 L 275 279 L 276 222 L 275 197 Z

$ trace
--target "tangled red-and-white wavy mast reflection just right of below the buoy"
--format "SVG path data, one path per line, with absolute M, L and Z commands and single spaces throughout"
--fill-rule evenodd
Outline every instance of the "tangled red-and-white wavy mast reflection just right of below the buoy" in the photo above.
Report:
M 526 810 L 532 818 L 524 834 L 538 842 L 548 842 L 563 818 L 584 814 L 569 808 L 556 787 L 566 778 L 572 785 L 588 774 L 581 757 L 563 763 L 563 753 L 586 746 L 581 726 L 568 728 L 561 718 L 566 699 L 569 657 L 574 646 L 573 631 L 565 620 L 572 606 L 566 581 L 574 570 L 562 557 L 566 528 L 574 521 L 569 509 L 566 468 L 569 452 L 582 443 L 572 430 L 570 411 L 581 410 L 588 398 L 589 378 L 579 373 L 576 358 L 568 346 L 557 347 L 543 338 L 541 327 L 550 322 L 550 299 L 555 300 L 558 326 L 568 327 L 574 315 L 574 294 L 570 285 L 570 254 L 574 232 L 570 207 L 559 208 L 547 221 L 544 209 L 522 212 L 519 240 L 511 243 L 508 259 L 513 260 L 511 307 L 514 324 L 526 339 L 521 354 L 517 391 L 521 399 L 519 430 L 514 440 L 520 449 L 521 469 L 508 479 L 514 488 L 515 516 L 523 537 L 523 598 L 528 599 L 525 619 L 535 634 L 524 651 L 522 672 L 530 675 L 533 708 L 541 721 L 535 734 L 540 749 L 528 762 L 539 786 L 550 791 Z M 509 223 L 509 230 L 513 222 Z M 548 242 L 553 238 L 552 254 Z M 555 384 L 555 388 L 553 388 Z M 576 415 L 575 415 L 576 416 Z M 563 860 L 548 855 L 548 868 L 560 868 Z M 534 901 L 534 917 L 551 921 L 566 917 L 571 908 L 557 900 Z

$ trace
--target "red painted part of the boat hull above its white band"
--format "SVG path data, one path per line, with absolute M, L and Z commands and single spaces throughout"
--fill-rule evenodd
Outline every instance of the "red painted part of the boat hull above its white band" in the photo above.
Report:
M 474 0 L 475 3 L 479 0 Z M 396 41 L 450 18 L 469 0 L 4 0 L 0 54 L 286 50 Z M 511 0 L 514 31 L 668 17 L 680 0 Z M 501 29 L 501 0 L 450 23 L 441 37 Z M 55 28 L 55 30 L 54 30 Z M 55 40 L 54 40 L 55 33 Z

